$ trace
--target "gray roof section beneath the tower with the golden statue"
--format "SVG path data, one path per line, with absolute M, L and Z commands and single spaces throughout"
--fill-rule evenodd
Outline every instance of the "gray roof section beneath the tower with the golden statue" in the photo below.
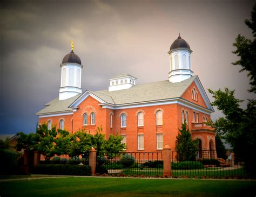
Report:
M 55 98 L 54 100 L 50 101 L 49 103 L 45 104 L 45 108 L 38 111 L 36 115 L 41 114 L 49 114 L 53 112 L 65 112 L 65 111 L 72 111 L 72 109 L 68 108 L 69 105 L 74 102 L 81 94 L 73 96 L 71 98 L 65 100 L 59 100 L 59 97 Z

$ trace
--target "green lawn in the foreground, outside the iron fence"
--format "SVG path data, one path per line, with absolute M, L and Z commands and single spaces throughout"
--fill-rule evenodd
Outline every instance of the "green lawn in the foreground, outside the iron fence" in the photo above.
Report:
M 256 181 L 68 177 L 0 182 L 0 196 L 255 196 Z

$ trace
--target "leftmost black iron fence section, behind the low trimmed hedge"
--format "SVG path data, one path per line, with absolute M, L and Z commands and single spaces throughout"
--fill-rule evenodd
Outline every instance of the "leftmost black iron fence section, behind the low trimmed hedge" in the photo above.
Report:
M 46 159 L 41 155 L 40 164 L 80 164 L 89 165 L 89 158 L 84 156 L 69 157 L 68 155 L 54 156 L 50 159 Z

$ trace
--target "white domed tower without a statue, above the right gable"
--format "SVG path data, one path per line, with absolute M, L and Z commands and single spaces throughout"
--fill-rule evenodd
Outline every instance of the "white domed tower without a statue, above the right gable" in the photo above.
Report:
M 191 49 L 188 43 L 179 37 L 172 43 L 170 51 L 169 81 L 172 83 L 184 81 L 193 76 L 191 68 Z

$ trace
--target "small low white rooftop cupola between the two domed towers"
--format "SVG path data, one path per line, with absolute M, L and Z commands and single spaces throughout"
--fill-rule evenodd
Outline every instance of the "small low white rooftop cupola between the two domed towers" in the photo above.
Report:
M 109 79 L 109 92 L 122 90 L 122 89 L 129 89 L 135 85 L 135 81 L 137 78 L 130 74 L 122 74 L 114 76 L 113 78 Z

